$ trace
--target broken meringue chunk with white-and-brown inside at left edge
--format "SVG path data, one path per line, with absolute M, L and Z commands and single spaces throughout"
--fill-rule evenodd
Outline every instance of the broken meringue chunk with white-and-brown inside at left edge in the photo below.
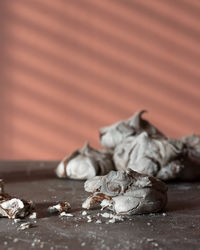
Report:
M 32 201 L 12 197 L 4 192 L 3 181 L 0 180 L 0 216 L 10 219 L 28 217 L 34 211 Z

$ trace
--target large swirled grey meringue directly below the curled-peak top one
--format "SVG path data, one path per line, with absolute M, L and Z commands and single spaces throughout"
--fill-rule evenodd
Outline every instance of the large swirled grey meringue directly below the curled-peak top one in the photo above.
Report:
M 117 169 L 132 169 L 161 180 L 176 178 L 184 168 L 187 150 L 176 139 L 153 138 L 147 132 L 129 137 L 113 153 Z

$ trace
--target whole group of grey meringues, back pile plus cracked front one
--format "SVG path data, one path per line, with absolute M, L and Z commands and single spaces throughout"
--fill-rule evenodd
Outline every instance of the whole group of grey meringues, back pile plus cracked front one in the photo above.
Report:
M 167 203 L 161 180 L 200 178 L 200 136 L 167 138 L 142 118 L 144 112 L 101 128 L 106 150 L 86 143 L 59 163 L 58 177 L 87 180 L 85 190 L 92 195 L 83 208 L 100 205 L 129 215 L 157 212 Z

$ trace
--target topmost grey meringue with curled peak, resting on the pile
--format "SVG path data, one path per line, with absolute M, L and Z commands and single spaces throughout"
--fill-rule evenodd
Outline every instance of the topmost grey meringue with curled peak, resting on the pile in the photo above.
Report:
M 109 149 L 114 149 L 127 137 L 133 136 L 142 131 L 146 131 L 149 135 L 165 137 L 164 134 L 155 128 L 150 122 L 142 118 L 142 114 L 145 112 L 145 110 L 138 111 L 127 120 L 119 121 L 111 126 L 101 128 L 101 145 Z

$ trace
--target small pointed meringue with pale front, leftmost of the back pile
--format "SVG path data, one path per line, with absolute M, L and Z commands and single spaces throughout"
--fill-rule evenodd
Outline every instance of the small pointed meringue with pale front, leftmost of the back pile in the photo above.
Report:
M 112 154 L 105 150 L 95 150 L 88 143 L 65 157 L 56 168 L 60 178 L 77 180 L 90 179 L 96 175 L 105 175 L 114 169 Z

